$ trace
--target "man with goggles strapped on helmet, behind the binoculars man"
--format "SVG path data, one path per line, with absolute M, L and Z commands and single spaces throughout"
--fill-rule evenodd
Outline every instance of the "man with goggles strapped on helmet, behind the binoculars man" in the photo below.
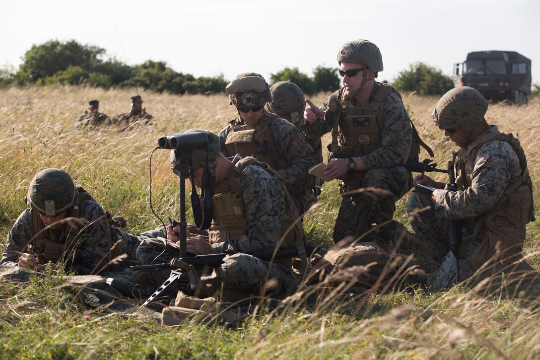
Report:
M 303 214 L 314 202 L 315 177 L 308 171 L 316 164 L 306 138 L 293 124 L 264 109 L 272 97 L 261 75 L 240 74 L 225 90 L 240 118 L 220 132 L 221 153 L 226 157 L 253 156 L 270 165 L 283 178 L 299 214 Z

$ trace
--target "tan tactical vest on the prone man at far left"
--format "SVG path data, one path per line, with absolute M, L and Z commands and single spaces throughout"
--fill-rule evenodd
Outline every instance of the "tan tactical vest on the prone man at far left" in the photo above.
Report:
M 74 217 L 80 219 L 79 214 L 80 212 L 82 212 L 82 210 L 84 210 L 84 202 L 86 200 L 95 202 L 93 197 L 88 194 L 86 190 L 84 190 L 80 186 L 77 188 L 77 190 L 79 192 L 79 201 L 76 206 L 73 206 L 68 211 L 68 213 L 66 214 L 66 218 Z M 106 212 L 105 215 L 107 217 L 107 222 L 109 222 L 109 225 L 111 226 L 111 214 L 109 212 Z M 37 254 L 40 263 L 46 263 L 49 261 L 57 263 L 64 258 L 65 254 L 69 254 L 72 251 L 81 250 L 83 248 L 84 239 L 82 237 L 81 231 L 84 230 L 83 228 L 87 222 L 86 219 L 83 219 L 83 221 L 85 221 L 84 224 L 80 224 L 74 221 L 65 222 L 64 227 L 60 229 L 60 237 L 65 237 L 65 242 L 57 243 L 51 241 L 48 238 L 49 230 L 45 230 L 45 224 L 39 217 L 38 211 L 30 208 L 30 218 L 30 232 L 32 236 L 32 241 L 28 245 L 28 248 L 29 251 L 33 252 L 33 254 Z M 116 243 L 117 239 L 118 231 L 116 228 L 111 226 L 111 245 Z M 111 258 L 117 257 L 122 254 L 122 246 L 114 246 L 114 248 L 112 248 L 111 250 L 113 251 L 111 254 Z

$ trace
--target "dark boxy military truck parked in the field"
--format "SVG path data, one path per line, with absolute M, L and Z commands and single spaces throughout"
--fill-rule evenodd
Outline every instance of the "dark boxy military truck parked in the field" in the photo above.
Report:
M 454 86 L 470 86 L 491 101 L 527 104 L 531 61 L 516 51 L 473 51 L 454 64 Z

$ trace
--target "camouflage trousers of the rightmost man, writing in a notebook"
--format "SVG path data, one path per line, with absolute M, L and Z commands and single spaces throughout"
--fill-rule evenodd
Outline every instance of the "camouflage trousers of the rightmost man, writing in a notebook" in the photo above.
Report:
M 441 289 L 451 286 L 454 282 L 456 258 L 450 251 L 448 231 L 450 221 L 437 216 L 433 208 L 425 209 L 428 206 L 433 206 L 431 196 L 429 194 L 415 192 L 407 203 L 407 212 L 414 214 L 411 225 L 417 237 L 422 240 L 431 257 L 441 264 L 433 282 L 435 289 Z M 425 210 L 418 211 L 419 209 Z M 459 258 L 460 281 L 470 278 L 475 273 L 468 260 L 483 241 L 485 232 L 479 231 L 475 236 L 472 235 L 473 229 L 467 226 L 462 227 L 463 243 L 460 248 Z M 480 279 L 480 277 L 477 279 Z

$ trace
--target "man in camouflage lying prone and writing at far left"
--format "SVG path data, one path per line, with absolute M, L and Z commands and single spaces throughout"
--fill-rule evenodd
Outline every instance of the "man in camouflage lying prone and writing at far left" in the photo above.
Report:
M 0 264 L 37 271 L 64 264 L 66 271 L 89 275 L 105 270 L 119 255 L 136 258 L 139 239 L 112 225 L 110 214 L 76 188 L 65 171 L 38 172 L 26 198 L 30 207 L 9 231 Z M 77 220 L 62 222 L 71 217 Z

